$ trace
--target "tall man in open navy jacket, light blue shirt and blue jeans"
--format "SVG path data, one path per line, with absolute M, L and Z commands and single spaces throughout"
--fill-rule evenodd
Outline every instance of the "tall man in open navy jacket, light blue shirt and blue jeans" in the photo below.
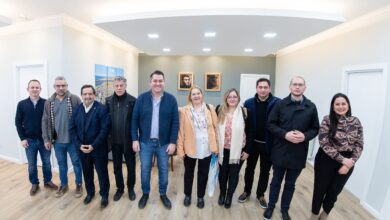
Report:
M 150 91 L 141 94 L 133 110 L 131 137 L 134 152 L 140 152 L 141 185 L 143 195 L 138 202 L 145 208 L 150 192 L 150 173 L 153 155 L 157 157 L 160 199 L 165 208 L 172 205 L 166 193 L 168 188 L 168 159 L 176 150 L 179 132 L 179 112 L 176 98 L 164 91 L 164 73 L 150 75 Z

